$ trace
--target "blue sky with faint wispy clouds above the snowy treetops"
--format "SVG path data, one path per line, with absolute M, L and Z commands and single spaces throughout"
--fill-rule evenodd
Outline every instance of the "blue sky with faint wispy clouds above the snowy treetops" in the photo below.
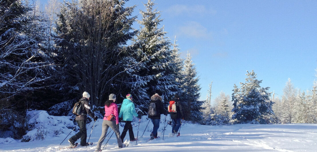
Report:
M 131 0 L 145 10 L 147 0 Z M 232 94 L 254 70 L 261 87 L 270 87 L 281 98 L 290 78 L 296 88 L 311 89 L 317 68 L 317 1 L 214 1 L 156 0 L 166 36 L 191 53 L 196 64 L 200 100 L 208 84 L 213 97 Z M 141 15 L 138 15 L 141 20 Z M 134 24 L 135 28 L 139 25 Z M 212 103 L 213 104 L 213 103 Z

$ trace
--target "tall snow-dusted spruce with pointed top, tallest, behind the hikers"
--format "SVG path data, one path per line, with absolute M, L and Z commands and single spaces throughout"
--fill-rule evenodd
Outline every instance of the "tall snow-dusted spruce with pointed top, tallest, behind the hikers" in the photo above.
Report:
M 148 0 L 144 4 L 146 11 L 140 11 L 142 20 L 138 22 L 141 27 L 133 42 L 138 46 L 136 59 L 143 64 L 138 75 L 146 78 L 146 83 L 142 87 L 147 91 L 148 100 L 143 101 L 142 104 L 148 105 L 150 97 L 158 93 L 162 96 L 164 105 L 167 105 L 166 101 L 181 91 L 176 75 L 178 56 L 173 55 L 171 42 L 165 37 L 167 32 L 164 31 L 164 26 L 158 27 L 163 19 L 160 19 L 160 11 L 153 9 L 154 5 L 155 3 Z

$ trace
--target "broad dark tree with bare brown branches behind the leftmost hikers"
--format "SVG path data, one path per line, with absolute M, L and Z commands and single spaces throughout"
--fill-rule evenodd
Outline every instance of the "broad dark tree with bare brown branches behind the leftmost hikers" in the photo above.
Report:
M 78 100 L 87 91 L 99 106 L 110 93 L 120 94 L 120 75 L 136 64 L 126 47 L 135 35 L 135 17 L 129 17 L 135 6 L 124 4 L 125 0 L 79 0 L 61 7 L 55 42 L 69 99 Z

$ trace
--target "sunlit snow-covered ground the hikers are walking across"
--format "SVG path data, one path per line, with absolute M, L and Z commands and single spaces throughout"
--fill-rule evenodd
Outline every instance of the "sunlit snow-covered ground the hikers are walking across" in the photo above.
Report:
M 41 114 L 42 117 L 48 117 L 47 113 Z M 51 119 L 56 119 L 54 123 L 67 125 L 67 117 L 49 116 Z M 169 116 L 168 116 L 169 117 Z M 38 117 L 40 119 L 41 117 Z M 129 146 L 123 149 L 117 149 L 118 145 L 113 135 L 107 147 L 103 151 L 129 151 L 129 152 L 165 152 L 165 151 L 282 151 L 282 152 L 299 152 L 299 151 L 316 151 L 317 149 L 317 124 L 237 124 L 230 126 L 204 126 L 197 124 L 183 124 L 180 130 L 180 137 L 171 137 L 171 126 L 168 125 L 165 130 L 164 140 L 161 131 L 164 127 L 164 118 L 161 117 L 161 124 L 159 128 L 159 136 L 161 138 L 148 141 L 150 131 L 152 131 L 152 122 L 149 123 L 149 129 L 146 129 L 143 137 L 138 138 L 136 142 L 130 142 Z M 62 120 L 65 120 L 63 122 Z M 36 121 L 36 120 L 34 120 Z M 52 121 L 51 121 L 52 122 Z M 102 119 L 96 121 L 92 135 L 89 142 L 94 142 L 92 146 L 76 147 L 73 149 L 60 149 L 68 146 L 67 139 L 73 136 L 73 131 L 67 139 L 60 145 L 61 141 L 71 132 L 71 129 L 64 129 L 64 133 L 57 136 L 50 136 L 47 134 L 44 140 L 33 140 L 31 142 L 22 143 L 20 141 L 12 140 L 12 138 L 0 138 L 0 151 L 76 151 L 86 152 L 94 151 L 96 143 L 100 137 Z M 148 120 L 146 116 L 142 117 L 139 128 L 139 136 L 145 130 Z M 40 123 L 38 123 L 40 124 Z M 87 140 L 94 123 L 87 125 Z M 123 125 L 124 123 L 122 123 Z M 138 121 L 134 122 L 134 135 L 137 136 Z M 49 125 L 47 130 L 50 130 Z M 56 127 L 56 124 L 52 124 Z M 57 125 L 58 126 L 58 125 Z M 45 128 L 45 127 L 44 127 Z M 70 128 L 70 127 L 69 127 Z M 52 127 L 53 129 L 53 127 Z M 53 129 L 54 130 L 54 129 Z M 55 128 L 56 130 L 56 128 Z M 122 132 L 123 127 L 120 127 Z M 112 131 L 110 135 L 112 134 Z M 125 140 L 129 140 L 127 133 Z M 108 137 L 106 138 L 107 141 Z M 102 146 L 106 143 L 103 143 Z M 80 142 L 80 139 L 77 141 Z

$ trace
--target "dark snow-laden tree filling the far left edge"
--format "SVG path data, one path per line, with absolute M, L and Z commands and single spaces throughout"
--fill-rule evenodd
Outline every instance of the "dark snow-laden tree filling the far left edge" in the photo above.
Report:
M 15 138 L 25 134 L 25 110 L 41 106 L 35 92 L 50 77 L 42 22 L 28 1 L 0 1 L 0 128 Z

